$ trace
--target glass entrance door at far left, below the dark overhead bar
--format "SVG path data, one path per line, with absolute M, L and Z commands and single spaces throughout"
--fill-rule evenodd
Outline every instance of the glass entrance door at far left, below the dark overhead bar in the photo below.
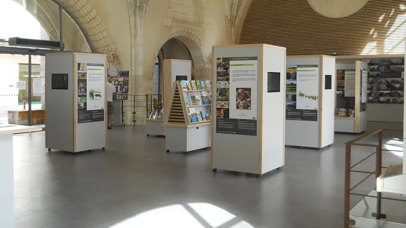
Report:
M 45 57 L 0 53 L 0 126 L 45 127 Z

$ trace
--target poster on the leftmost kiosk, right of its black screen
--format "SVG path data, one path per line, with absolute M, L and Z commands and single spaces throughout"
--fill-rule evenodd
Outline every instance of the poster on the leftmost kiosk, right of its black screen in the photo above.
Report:
M 105 119 L 105 66 L 78 63 L 78 123 Z

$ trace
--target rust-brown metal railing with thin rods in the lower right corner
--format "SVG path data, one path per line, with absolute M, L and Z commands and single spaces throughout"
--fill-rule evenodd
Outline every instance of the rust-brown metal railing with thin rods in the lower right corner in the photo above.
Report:
M 367 135 L 360 136 L 356 139 L 353 139 L 353 140 L 345 143 L 346 144 L 346 161 L 345 161 L 344 228 L 349 228 L 350 225 L 355 225 L 355 220 L 350 219 L 350 196 L 351 195 L 362 196 L 364 198 L 365 197 L 376 198 L 377 199 L 377 211 L 372 214 L 372 216 L 374 216 L 376 219 L 381 219 L 381 218 L 385 219 L 386 218 L 386 214 L 383 214 L 381 212 L 381 200 L 382 199 L 406 202 L 406 200 L 382 197 L 381 192 L 377 192 L 377 196 L 363 195 L 363 194 L 357 194 L 357 193 L 351 192 L 355 187 L 359 186 L 363 181 L 365 181 L 371 175 L 375 174 L 375 178 L 378 178 L 382 173 L 382 168 L 388 168 L 388 167 L 382 167 L 382 151 L 399 151 L 399 150 L 382 149 L 382 137 L 383 137 L 384 131 L 402 132 L 402 130 L 380 129 L 380 130 L 371 132 Z M 373 136 L 373 135 L 378 135 L 378 144 L 359 143 L 360 140 Z M 375 147 L 375 152 L 368 155 L 366 158 L 363 158 L 361 161 L 359 161 L 356 164 L 351 166 L 351 146 L 353 146 L 353 145 Z M 403 150 L 401 150 L 401 151 L 403 151 Z M 376 155 L 375 171 L 366 172 L 366 171 L 360 171 L 360 170 L 353 170 L 353 168 L 355 166 L 357 166 L 361 162 L 365 161 L 366 159 L 372 157 L 373 155 Z M 351 185 L 350 185 L 351 184 L 350 183 L 351 172 L 365 173 L 365 174 L 368 174 L 368 176 L 366 176 L 360 182 L 358 182 L 353 187 L 351 187 Z

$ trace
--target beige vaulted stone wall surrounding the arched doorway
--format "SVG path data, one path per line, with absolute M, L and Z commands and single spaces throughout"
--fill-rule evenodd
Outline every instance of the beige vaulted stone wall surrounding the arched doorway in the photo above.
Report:
M 168 40 L 179 41 L 172 50 L 187 48 L 188 52 L 171 53 L 175 58 L 192 59 L 195 79 L 211 79 L 212 46 L 235 43 L 240 20 L 251 0 L 59 1 L 84 27 L 95 52 L 108 55 L 109 66 L 130 71 L 130 94 L 138 95 L 136 105 L 143 106 L 145 94 L 154 92 L 155 60 Z M 50 1 L 38 2 L 45 8 Z M 42 11 L 37 18 L 55 39 L 57 28 L 49 17 Z M 69 29 L 76 25 L 64 26 Z M 65 38 L 69 49 L 86 50 L 80 34 L 66 34 Z M 131 124 L 132 110 L 124 111 L 125 122 Z M 136 112 L 136 124 L 144 124 L 146 108 L 137 107 Z

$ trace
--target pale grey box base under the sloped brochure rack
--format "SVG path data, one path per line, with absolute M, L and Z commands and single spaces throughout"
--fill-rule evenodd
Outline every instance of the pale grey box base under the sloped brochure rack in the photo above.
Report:
M 166 152 L 191 150 L 211 146 L 211 122 L 195 125 L 163 124 L 165 126 Z

